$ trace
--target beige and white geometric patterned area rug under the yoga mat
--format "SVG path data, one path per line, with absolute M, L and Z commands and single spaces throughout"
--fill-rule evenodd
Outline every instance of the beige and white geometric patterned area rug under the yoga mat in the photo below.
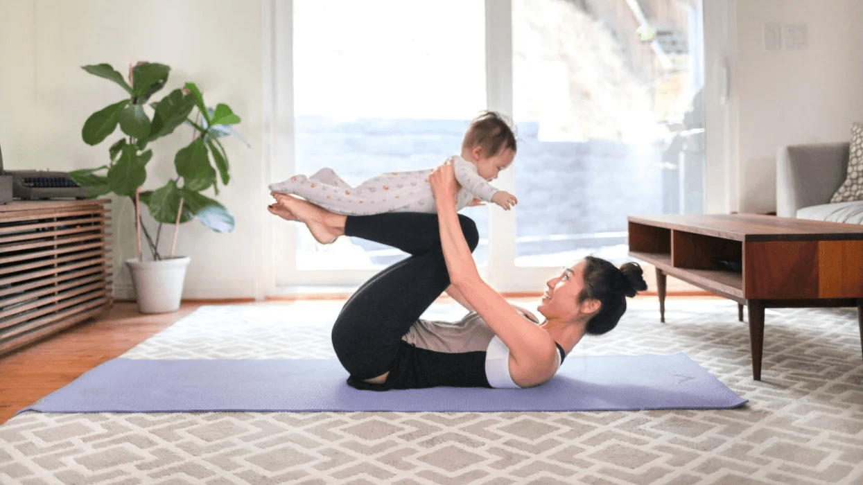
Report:
M 513 300 L 514 301 L 514 300 Z M 526 306 L 523 302 L 520 305 Z M 332 358 L 338 302 L 203 306 L 123 357 Z M 683 351 L 746 406 L 614 413 L 22 413 L 0 425 L 3 484 L 859 484 L 854 309 L 767 310 L 752 380 L 737 306 L 636 299 L 574 355 Z M 439 305 L 426 316 L 458 317 Z M 565 365 L 565 364 L 564 364 Z

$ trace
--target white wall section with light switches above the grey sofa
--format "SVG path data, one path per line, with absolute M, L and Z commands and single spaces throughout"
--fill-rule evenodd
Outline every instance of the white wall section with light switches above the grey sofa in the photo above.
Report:
M 773 211 L 777 149 L 847 141 L 863 121 L 863 0 L 738 0 L 736 11 L 739 207 Z M 766 51 L 766 23 L 806 24 L 809 48 Z

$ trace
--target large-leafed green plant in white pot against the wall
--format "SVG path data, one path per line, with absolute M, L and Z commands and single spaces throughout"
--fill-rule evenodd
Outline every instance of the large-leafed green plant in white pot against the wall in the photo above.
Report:
M 109 64 L 83 66 L 86 72 L 113 81 L 128 97 L 93 113 L 84 123 L 81 136 L 94 146 L 120 127 L 119 139 L 108 149 L 108 163 L 70 173 L 72 180 L 85 187 L 91 198 L 116 194 L 132 199 L 135 207 L 137 256 L 126 260 L 135 287 L 140 312 L 174 312 L 180 308 L 188 256 L 174 255 L 180 224 L 198 219 L 217 232 L 234 229 L 234 217 L 214 198 L 204 194 L 212 189 L 218 195 L 218 184 L 230 181 L 230 165 L 222 142 L 225 135 L 237 135 L 232 125 L 240 123 L 226 104 L 208 109 L 198 86 L 186 83 L 159 101 L 153 95 L 167 83 L 171 68 L 154 62 L 139 62 L 129 68 L 129 82 Z M 192 111 L 198 110 L 195 120 Z M 153 151 L 148 145 L 171 135 L 180 124 L 193 130 L 192 142 L 173 154 L 175 175 L 161 187 L 142 190 L 147 181 L 148 162 Z M 239 135 L 237 135 L 239 136 Z M 158 223 L 155 235 L 142 218 L 141 206 Z M 173 224 L 170 251 L 160 249 L 162 225 Z M 150 258 L 142 251 L 142 236 Z

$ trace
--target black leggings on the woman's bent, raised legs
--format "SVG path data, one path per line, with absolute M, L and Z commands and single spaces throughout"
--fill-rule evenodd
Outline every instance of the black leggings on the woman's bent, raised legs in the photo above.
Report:
M 470 250 L 480 236 L 476 224 L 459 214 Z M 440 246 L 437 214 L 415 212 L 348 216 L 344 234 L 381 242 L 410 256 L 362 284 L 336 319 L 332 346 L 356 380 L 387 372 L 405 335 L 431 303 L 450 286 Z

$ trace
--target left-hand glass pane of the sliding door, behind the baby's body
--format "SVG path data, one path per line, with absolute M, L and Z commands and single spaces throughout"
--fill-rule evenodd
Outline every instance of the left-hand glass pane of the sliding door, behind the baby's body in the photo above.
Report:
M 435 167 L 484 109 L 482 0 L 294 0 L 297 173 L 331 167 L 356 186 Z M 480 236 L 486 211 L 471 208 Z M 372 268 L 404 253 L 356 238 L 322 246 L 299 230 L 299 269 Z M 485 261 L 485 247 L 477 261 Z

